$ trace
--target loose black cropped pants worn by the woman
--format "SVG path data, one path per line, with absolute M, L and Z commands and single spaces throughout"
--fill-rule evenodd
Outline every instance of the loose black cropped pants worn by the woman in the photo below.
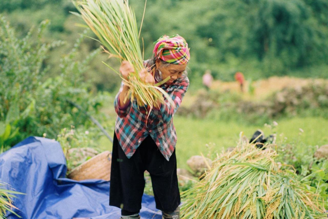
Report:
M 114 133 L 109 205 L 125 211 L 139 211 L 145 188 L 145 170 L 152 179 L 156 208 L 174 211 L 180 204 L 175 150 L 167 161 L 150 136 L 128 159 Z

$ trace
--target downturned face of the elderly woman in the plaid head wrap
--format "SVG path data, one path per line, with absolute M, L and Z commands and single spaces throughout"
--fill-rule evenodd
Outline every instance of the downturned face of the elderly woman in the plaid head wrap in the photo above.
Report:
M 171 78 L 167 81 L 168 84 L 171 84 L 174 80 L 181 77 L 183 72 L 186 70 L 188 64 L 177 65 L 177 64 L 170 64 L 165 66 L 161 60 L 156 60 L 156 68 L 162 72 L 162 79 L 164 80 L 168 76 Z

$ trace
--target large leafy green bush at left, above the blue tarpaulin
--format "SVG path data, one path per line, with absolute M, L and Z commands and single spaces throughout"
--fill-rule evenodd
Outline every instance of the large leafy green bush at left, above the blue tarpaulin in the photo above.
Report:
M 90 126 L 87 115 L 69 101 L 92 113 L 101 105 L 83 77 L 88 63 L 100 50 L 92 51 L 82 61 L 75 60 L 81 36 L 71 52 L 62 56 L 60 74 L 48 77 L 52 66 L 44 65 L 47 54 L 63 44 L 42 42 L 48 25 L 49 21 L 43 21 L 36 32 L 32 28 L 26 37 L 18 39 L 5 18 L 0 18 L 0 39 L 6 42 L 0 43 L 0 143 L 5 148 L 30 135 L 46 133 L 56 138 L 63 127 Z M 33 34 L 37 37 L 31 38 Z

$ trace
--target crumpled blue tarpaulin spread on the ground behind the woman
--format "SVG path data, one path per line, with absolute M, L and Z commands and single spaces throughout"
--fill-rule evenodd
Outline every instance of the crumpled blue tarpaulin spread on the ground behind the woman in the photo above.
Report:
M 14 211 L 22 218 L 120 217 L 120 209 L 109 206 L 109 181 L 76 181 L 65 178 L 66 171 L 62 148 L 51 139 L 29 137 L 0 154 L 0 181 L 25 193 L 13 198 L 13 204 L 19 209 Z M 155 209 L 154 197 L 143 195 L 140 216 L 161 218 Z M 10 212 L 7 217 L 18 218 Z

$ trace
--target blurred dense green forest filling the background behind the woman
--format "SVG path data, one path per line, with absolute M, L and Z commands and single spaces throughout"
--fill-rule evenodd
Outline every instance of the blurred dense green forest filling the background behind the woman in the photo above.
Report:
M 144 1 L 130 0 L 140 26 Z M 51 66 L 48 76 L 60 73 L 60 59 L 68 53 L 86 29 L 68 0 L 2 0 L 0 13 L 19 37 L 42 21 L 43 42 L 62 41 L 52 48 L 43 66 Z M 80 25 L 79 25 L 80 24 Z M 93 37 L 88 31 L 85 33 Z M 209 69 L 215 79 L 233 80 L 241 71 L 248 80 L 269 76 L 327 78 L 328 1 L 326 0 L 148 0 L 140 45 L 144 58 L 152 54 L 153 42 L 161 35 L 179 34 L 189 43 L 191 89 L 201 85 L 201 76 Z M 36 36 L 32 36 L 36 37 Z M 99 44 L 85 39 L 77 48 L 76 59 L 85 58 Z M 94 91 L 116 90 L 120 78 L 101 64 L 119 63 L 98 54 L 88 64 L 83 79 Z

